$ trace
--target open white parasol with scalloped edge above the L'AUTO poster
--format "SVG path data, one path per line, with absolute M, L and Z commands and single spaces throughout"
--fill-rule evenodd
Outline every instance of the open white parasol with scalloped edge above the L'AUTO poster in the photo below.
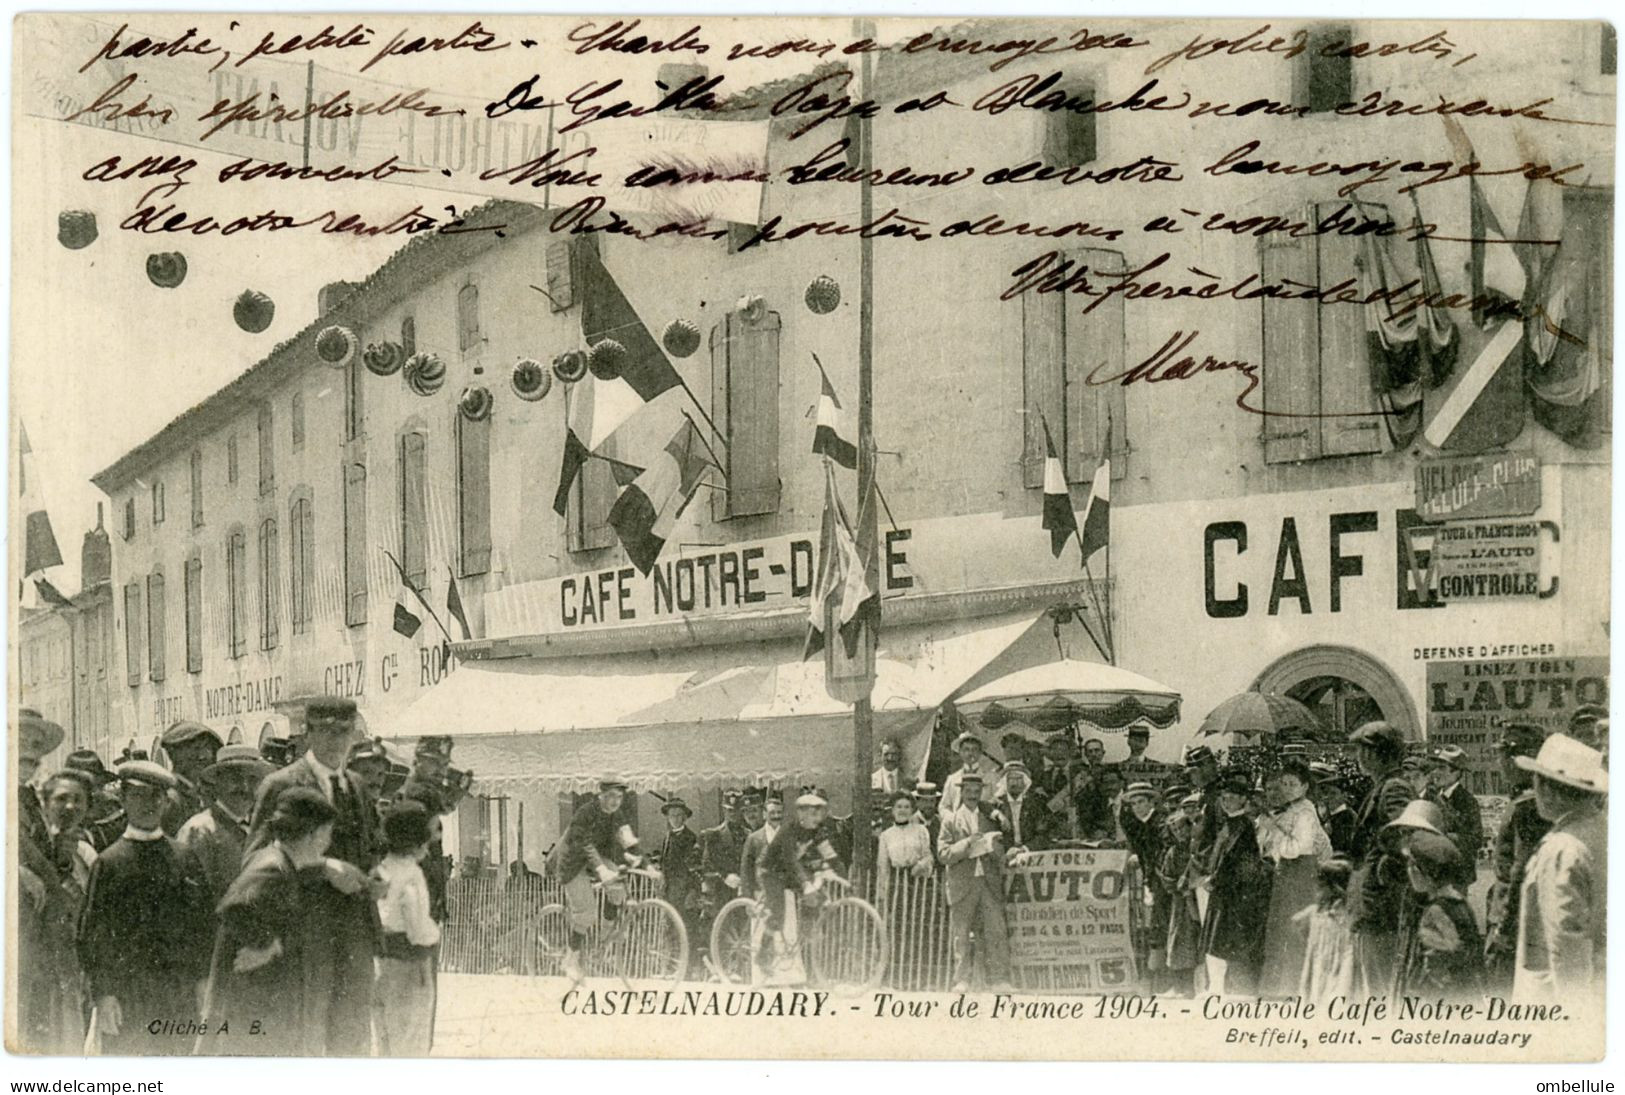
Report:
M 1017 669 L 954 697 L 954 705 L 990 729 L 1011 720 L 1040 731 L 1074 721 L 1121 729 L 1141 720 L 1167 729 L 1180 718 L 1178 692 L 1098 661 L 1050 661 Z

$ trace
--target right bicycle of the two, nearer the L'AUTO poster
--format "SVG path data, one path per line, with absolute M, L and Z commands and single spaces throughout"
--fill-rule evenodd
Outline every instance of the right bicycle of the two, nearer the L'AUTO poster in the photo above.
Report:
M 800 959 L 808 981 L 835 996 L 858 996 L 879 988 L 889 947 L 886 921 L 869 902 L 853 897 L 852 884 L 840 876 L 824 872 L 816 887 L 812 902 L 808 902 L 809 895 L 800 895 L 796 902 L 798 924 L 806 931 L 791 934 L 786 924 L 788 946 L 778 950 L 769 975 L 793 968 Z M 767 902 L 754 897 L 736 897 L 718 910 L 712 921 L 708 963 L 723 983 L 751 983 L 767 916 Z

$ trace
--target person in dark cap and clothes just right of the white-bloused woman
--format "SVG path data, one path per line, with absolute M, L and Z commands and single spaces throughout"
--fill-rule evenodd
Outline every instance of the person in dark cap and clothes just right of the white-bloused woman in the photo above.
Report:
M 1372 780 L 1372 790 L 1355 811 L 1350 850 L 1355 864 L 1355 876 L 1349 882 L 1355 989 L 1381 994 L 1394 983 L 1401 905 L 1409 889 L 1404 863 L 1394 850 L 1383 846 L 1381 833 L 1388 822 L 1404 812 L 1414 794 L 1401 773 L 1406 741 L 1398 728 L 1380 720 L 1370 721 L 1357 728 L 1349 742 L 1360 770 Z

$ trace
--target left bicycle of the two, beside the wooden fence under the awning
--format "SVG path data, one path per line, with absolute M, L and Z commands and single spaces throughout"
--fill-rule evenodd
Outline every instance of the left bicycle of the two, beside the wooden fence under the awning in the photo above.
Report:
M 608 882 L 621 882 L 629 876 L 650 884 L 661 879 L 660 871 L 624 868 Z M 593 882 L 598 918 L 582 949 L 583 976 L 619 978 L 627 985 L 634 980 L 681 981 L 689 970 L 689 931 L 682 924 L 682 915 L 658 897 L 630 897 L 621 907 L 621 915 L 608 921 L 603 915 L 604 885 L 604 881 Z M 569 910 L 561 903 L 546 905 L 536 936 L 541 952 L 538 973 L 562 973 L 570 946 Z

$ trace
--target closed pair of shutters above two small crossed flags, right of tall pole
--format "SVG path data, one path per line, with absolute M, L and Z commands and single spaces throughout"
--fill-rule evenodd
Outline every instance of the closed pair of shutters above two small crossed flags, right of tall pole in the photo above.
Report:
M 1115 250 L 1081 247 L 1066 252 L 1071 270 L 1092 284 L 1123 271 Z M 1089 483 L 1112 437 L 1112 478 L 1128 468 L 1128 413 L 1121 383 L 1089 383 L 1089 375 L 1123 372 L 1123 297 L 1112 296 L 1092 312 L 1092 297 L 1069 292 L 1024 292 L 1022 315 L 1022 483 L 1043 486 L 1043 427 L 1061 457 L 1068 483 Z

